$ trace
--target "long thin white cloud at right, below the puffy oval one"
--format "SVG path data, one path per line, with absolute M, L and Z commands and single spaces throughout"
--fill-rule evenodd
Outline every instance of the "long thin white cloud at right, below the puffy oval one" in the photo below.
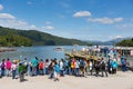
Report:
M 91 22 L 100 22 L 100 23 L 104 23 L 104 24 L 111 24 L 114 22 L 121 22 L 123 20 L 123 18 L 89 18 L 88 21 Z

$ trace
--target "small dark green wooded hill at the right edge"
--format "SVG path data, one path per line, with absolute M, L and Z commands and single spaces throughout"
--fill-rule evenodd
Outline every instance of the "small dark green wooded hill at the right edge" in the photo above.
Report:
M 121 42 L 117 42 L 116 46 L 133 47 L 133 38 L 132 39 L 122 40 Z

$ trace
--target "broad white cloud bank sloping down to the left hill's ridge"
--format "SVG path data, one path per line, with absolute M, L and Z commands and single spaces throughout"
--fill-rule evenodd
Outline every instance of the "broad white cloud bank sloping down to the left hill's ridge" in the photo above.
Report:
M 0 13 L 0 26 L 16 29 L 24 29 L 24 30 L 38 30 L 34 24 L 30 24 L 25 21 L 17 19 L 14 16 L 10 13 Z

